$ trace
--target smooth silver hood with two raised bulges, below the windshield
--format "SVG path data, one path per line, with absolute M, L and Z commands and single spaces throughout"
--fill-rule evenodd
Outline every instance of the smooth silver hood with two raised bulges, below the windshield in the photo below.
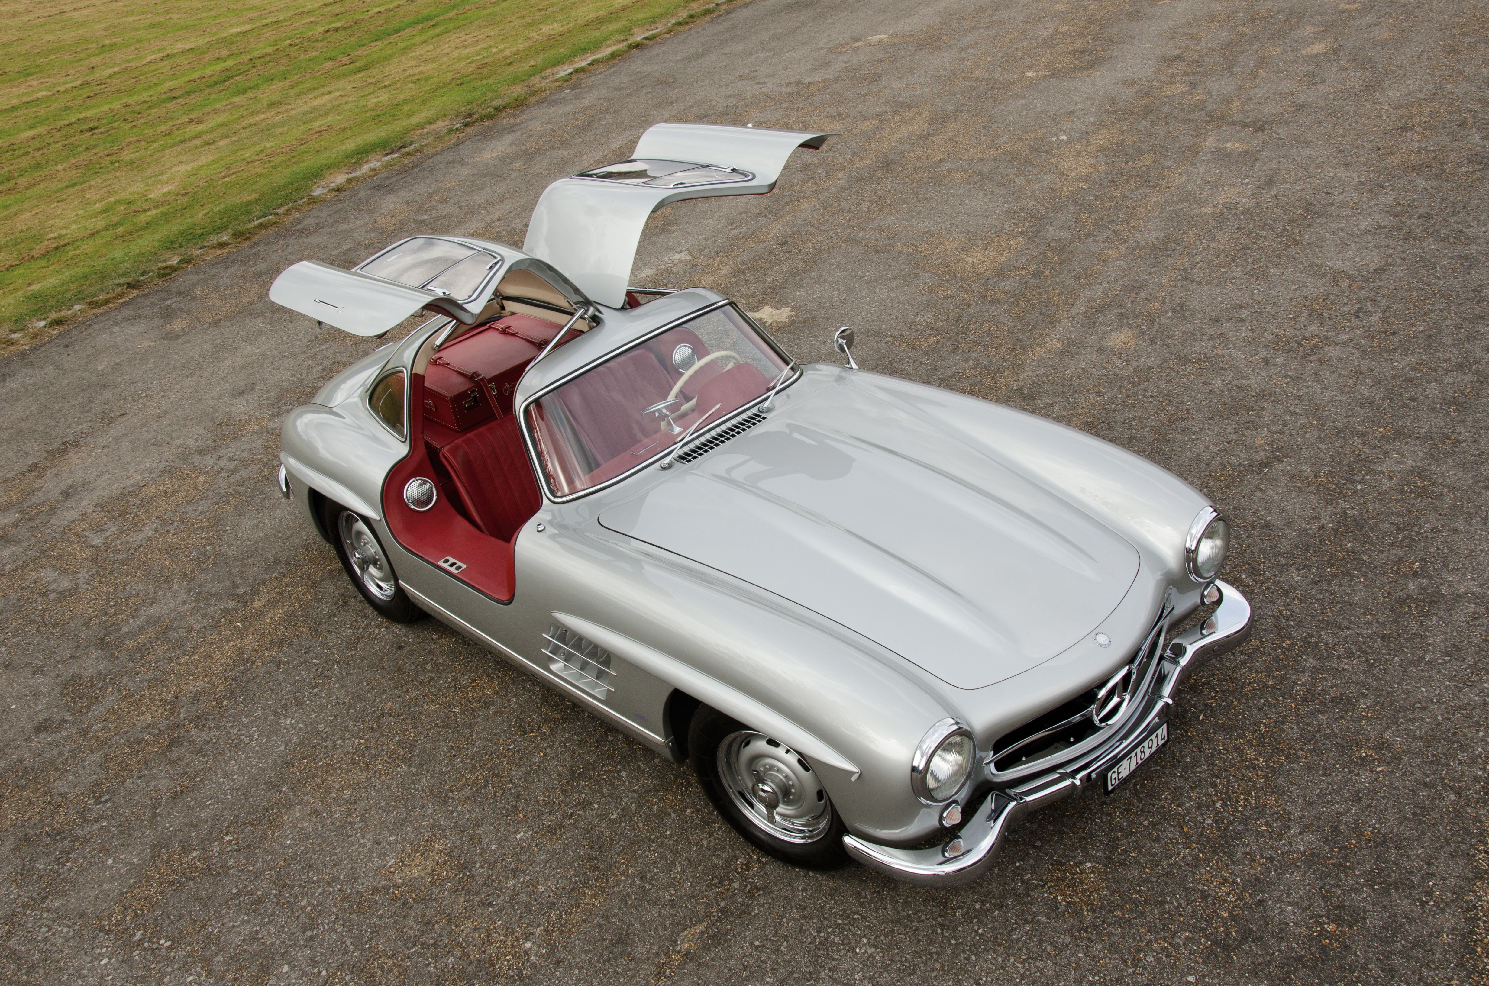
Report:
M 600 523 L 807 606 L 957 688 L 1090 633 L 1139 554 L 986 450 L 852 384 L 788 407 Z

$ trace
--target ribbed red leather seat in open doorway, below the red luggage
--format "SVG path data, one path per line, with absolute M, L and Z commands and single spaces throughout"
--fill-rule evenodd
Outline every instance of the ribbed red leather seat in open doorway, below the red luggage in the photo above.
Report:
M 471 523 L 491 538 L 511 541 L 542 505 L 512 414 L 463 433 L 439 450 L 439 459 L 460 490 Z

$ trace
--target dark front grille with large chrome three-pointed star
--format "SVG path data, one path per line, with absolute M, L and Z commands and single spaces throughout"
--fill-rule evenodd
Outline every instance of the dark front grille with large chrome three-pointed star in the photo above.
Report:
M 1158 618 L 1133 660 L 1109 679 L 999 736 L 989 764 L 993 773 L 1005 775 L 1045 761 L 1054 764 L 1063 760 L 1060 755 L 1066 751 L 1075 755 L 1081 752 L 1075 748 L 1126 721 L 1130 709 L 1148 694 L 1152 669 L 1163 651 L 1166 618 L 1167 612 Z

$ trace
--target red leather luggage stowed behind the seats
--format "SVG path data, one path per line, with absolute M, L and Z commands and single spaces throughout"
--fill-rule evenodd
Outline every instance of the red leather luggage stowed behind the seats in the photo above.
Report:
M 463 432 L 512 410 L 523 369 L 558 332 L 557 325 L 509 314 L 445 343 L 424 371 L 424 414 Z

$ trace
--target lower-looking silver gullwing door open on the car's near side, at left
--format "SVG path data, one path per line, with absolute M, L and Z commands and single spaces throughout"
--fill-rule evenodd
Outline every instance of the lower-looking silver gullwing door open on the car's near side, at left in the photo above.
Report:
M 588 299 L 543 261 L 484 240 L 409 237 L 353 270 L 301 261 L 270 286 L 270 301 L 353 335 L 383 335 L 420 310 L 474 325 L 520 270 L 532 270 L 572 307 Z

